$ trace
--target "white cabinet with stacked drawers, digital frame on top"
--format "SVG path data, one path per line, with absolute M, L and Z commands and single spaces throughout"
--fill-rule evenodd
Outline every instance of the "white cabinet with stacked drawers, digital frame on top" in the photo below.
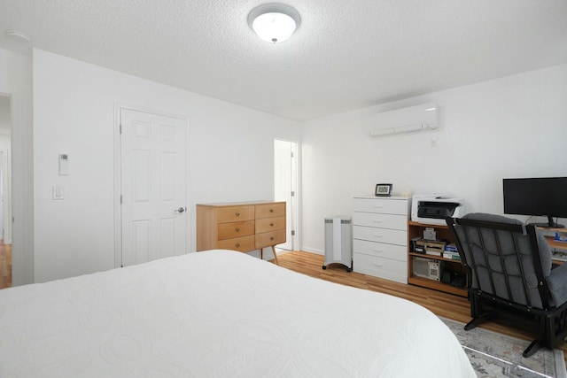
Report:
M 411 198 L 353 198 L 353 270 L 408 283 Z

